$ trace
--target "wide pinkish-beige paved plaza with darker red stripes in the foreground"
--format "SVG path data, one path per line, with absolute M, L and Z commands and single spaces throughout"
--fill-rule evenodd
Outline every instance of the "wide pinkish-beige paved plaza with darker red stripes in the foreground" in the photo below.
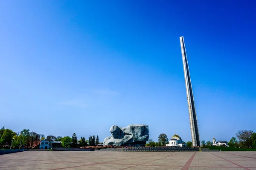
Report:
M 256 152 L 24 151 L 0 155 L 0 170 L 256 170 Z

